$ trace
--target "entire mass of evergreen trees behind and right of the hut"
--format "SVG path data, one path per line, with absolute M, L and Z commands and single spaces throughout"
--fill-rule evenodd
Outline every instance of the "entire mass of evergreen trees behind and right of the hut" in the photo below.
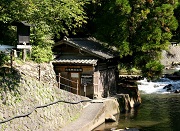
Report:
M 131 62 L 123 63 L 127 67 L 140 68 L 145 77 L 152 78 L 149 73 L 162 72 L 161 52 L 167 49 L 172 31 L 178 27 L 174 17 L 177 4 L 177 0 L 97 0 L 93 12 L 87 12 L 96 27 L 92 34 L 116 46 L 121 58 L 128 57 Z

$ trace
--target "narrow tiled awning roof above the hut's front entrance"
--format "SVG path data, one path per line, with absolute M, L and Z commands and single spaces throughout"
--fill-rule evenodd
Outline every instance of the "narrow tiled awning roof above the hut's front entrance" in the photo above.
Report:
M 61 64 L 89 64 L 89 65 L 96 65 L 97 60 L 95 59 L 60 59 L 54 60 L 52 63 L 61 63 Z

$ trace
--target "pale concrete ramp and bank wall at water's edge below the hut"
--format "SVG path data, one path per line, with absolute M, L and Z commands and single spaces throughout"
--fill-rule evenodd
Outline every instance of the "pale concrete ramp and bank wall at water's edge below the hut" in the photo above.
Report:
M 80 118 L 62 128 L 62 131 L 91 131 L 106 119 L 114 119 L 114 115 L 118 113 L 119 103 L 115 97 L 92 100 L 84 107 Z

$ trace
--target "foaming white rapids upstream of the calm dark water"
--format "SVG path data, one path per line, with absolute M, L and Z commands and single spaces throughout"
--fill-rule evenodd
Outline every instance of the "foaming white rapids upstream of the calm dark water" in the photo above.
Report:
M 170 90 L 167 91 L 166 89 L 163 89 L 165 86 L 171 84 Z M 180 80 L 170 80 L 168 78 L 161 78 L 157 82 L 148 82 L 147 79 L 139 80 L 138 81 L 138 89 L 142 93 L 151 94 L 151 93 L 172 93 L 176 90 L 180 90 Z

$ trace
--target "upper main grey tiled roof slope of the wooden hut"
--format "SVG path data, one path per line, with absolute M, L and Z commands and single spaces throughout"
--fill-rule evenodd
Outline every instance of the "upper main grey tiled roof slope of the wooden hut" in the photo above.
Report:
M 63 42 L 103 59 L 113 58 L 116 52 L 113 49 L 107 48 L 95 38 L 65 38 Z M 60 43 L 62 43 L 62 41 Z M 59 45 L 59 43 L 57 43 L 57 45 Z

